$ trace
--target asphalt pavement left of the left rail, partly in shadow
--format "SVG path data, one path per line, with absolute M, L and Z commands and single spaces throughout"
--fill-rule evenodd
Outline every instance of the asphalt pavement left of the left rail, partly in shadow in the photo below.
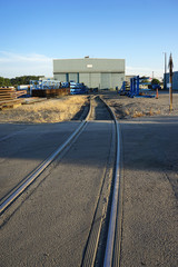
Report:
M 78 121 L 0 123 L 0 198 L 56 150 L 78 125 Z

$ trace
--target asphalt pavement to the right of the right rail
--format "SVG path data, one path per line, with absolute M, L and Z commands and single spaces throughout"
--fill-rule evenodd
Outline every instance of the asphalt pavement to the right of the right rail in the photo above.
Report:
M 178 266 L 178 117 L 121 121 L 121 267 Z

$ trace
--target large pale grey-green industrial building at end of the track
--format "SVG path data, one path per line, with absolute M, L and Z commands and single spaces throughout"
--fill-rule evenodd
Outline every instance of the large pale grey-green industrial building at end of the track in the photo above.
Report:
M 125 59 L 55 59 L 53 78 L 75 81 L 89 88 L 116 89 L 125 80 Z

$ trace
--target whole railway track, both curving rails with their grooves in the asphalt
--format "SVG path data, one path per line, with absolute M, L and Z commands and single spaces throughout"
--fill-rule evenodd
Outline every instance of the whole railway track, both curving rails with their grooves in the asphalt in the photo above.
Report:
M 87 245 L 82 256 L 81 266 L 118 266 L 120 250 L 121 229 L 121 184 L 120 184 L 120 140 L 119 127 L 115 115 L 106 102 L 99 97 L 91 99 L 89 112 L 71 136 L 41 162 L 29 176 L 7 194 L 0 204 L 0 214 L 11 208 L 17 199 L 29 190 L 30 186 L 37 182 L 39 177 L 48 171 L 48 168 L 65 154 L 70 151 L 76 140 L 80 139 L 89 123 L 95 121 L 110 121 L 111 135 L 110 152 L 103 171 L 103 179 L 100 182 L 100 191 L 96 201 L 95 215 L 89 230 Z M 93 125 L 95 126 L 95 125 Z M 110 126 L 109 126 L 110 127 Z M 51 167 L 52 168 L 52 167 Z M 109 185 L 109 186 L 108 186 Z M 103 204 L 105 199 L 105 204 Z M 19 200 L 20 201 L 20 200 Z M 16 205 L 14 205 L 16 206 Z M 17 207 L 16 207 L 17 208 Z M 14 212 L 14 210 L 13 210 Z M 7 221 L 7 219 L 4 220 Z M 105 255 L 105 256 L 103 256 Z

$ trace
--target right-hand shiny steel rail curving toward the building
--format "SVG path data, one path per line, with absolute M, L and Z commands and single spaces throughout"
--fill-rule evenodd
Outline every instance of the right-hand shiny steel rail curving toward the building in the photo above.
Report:
M 101 98 L 103 101 L 103 99 Z M 105 102 L 105 101 L 103 101 Z M 105 102 L 106 103 L 106 102 Z M 108 107 L 116 126 L 116 136 L 117 136 L 117 149 L 116 149 L 116 162 L 115 162 L 115 184 L 113 184 L 113 194 L 112 194 L 112 202 L 111 202 L 111 211 L 110 211 L 110 219 L 109 219 L 109 230 L 107 236 L 107 246 L 105 251 L 105 260 L 103 267 L 111 267 L 112 266 L 112 257 L 113 257 L 113 248 L 115 248 L 115 235 L 116 235 L 116 220 L 117 220 L 117 211 L 119 205 L 119 189 L 120 189 L 120 135 L 119 135 L 119 126 L 116 119 L 115 113 L 112 112 L 111 108 L 106 103 Z

